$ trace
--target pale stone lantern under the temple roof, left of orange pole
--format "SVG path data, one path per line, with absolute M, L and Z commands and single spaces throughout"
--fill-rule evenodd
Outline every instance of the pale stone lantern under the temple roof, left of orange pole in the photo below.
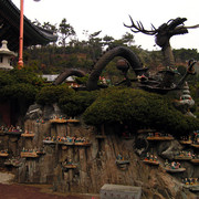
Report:
M 8 42 L 6 40 L 3 40 L 1 43 L 2 45 L 0 48 L 0 70 L 12 70 L 13 66 L 11 65 L 11 59 L 13 56 L 17 56 L 17 54 L 7 48 Z

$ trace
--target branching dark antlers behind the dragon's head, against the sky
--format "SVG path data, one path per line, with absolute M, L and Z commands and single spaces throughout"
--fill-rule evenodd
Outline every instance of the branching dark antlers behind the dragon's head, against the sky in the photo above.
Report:
M 134 20 L 132 19 L 132 17 L 129 15 L 129 19 L 130 19 L 130 22 L 132 22 L 132 24 L 130 25 L 126 25 L 125 23 L 124 23 L 124 25 L 126 27 L 126 28 L 130 28 L 130 30 L 133 31 L 133 32 L 143 32 L 143 33 L 145 33 L 145 34 L 149 34 L 149 35 L 154 35 L 154 34 L 156 34 L 157 33 L 157 29 L 151 24 L 151 30 L 145 30 L 145 28 L 144 28 L 144 25 L 143 25 L 143 23 L 139 21 L 137 21 L 137 24 L 135 24 L 135 22 L 134 22 Z

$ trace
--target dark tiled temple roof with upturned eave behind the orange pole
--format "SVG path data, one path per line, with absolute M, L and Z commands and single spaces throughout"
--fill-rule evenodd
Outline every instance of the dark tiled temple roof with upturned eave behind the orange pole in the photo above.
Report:
M 8 41 L 8 49 L 18 51 L 20 36 L 20 10 L 11 0 L 0 0 L 0 42 Z M 24 17 L 23 46 L 45 45 L 55 42 L 57 35 L 52 31 L 39 28 Z

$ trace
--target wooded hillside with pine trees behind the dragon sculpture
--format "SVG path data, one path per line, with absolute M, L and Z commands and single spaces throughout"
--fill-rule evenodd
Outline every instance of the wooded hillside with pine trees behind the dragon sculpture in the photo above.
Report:
M 142 60 L 145 66 L 150 71 L 159 71 L 163 67 L 164 57 L 161 51 L 148 51 L 142 49 L 142 45 L 135 45 L 134 34 L 126 32 L 119 40 L 112 35 L 101 38 L 101 30 L 90 33 L 83 31 L 86 40 L 80 41 L 75 30 L 64 18 L 61 23 L 51 24 L 39 21 L 33 22 L 35 25 L 51 30 L 57 34 L 57 42 L 49 45 L 30 46 L 24 51 L 25 67 L 42 74 L 60 74 L 65 69 L 81 69 L 90 72 L 94 63 L 108 49 L 118 45 L 128 46 Z M 174 50 L 176 66 L 186 66 L 190 59 L 199 60 L 199 53 L 196 49 L 179 49 Z M 116 59 L 117 60 L 117 59 Z M 115 62 L 111 62 L 104 74 L 106 77 L 118 75 L 118 70 L 115 67 Z

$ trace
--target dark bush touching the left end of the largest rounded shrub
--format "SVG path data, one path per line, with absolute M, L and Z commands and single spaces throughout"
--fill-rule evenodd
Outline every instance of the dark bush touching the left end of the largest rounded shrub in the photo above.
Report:
M 64 95 L 60 98 L 59 106 L 69 116 L 80 115 L 96 100 L 97 93 L 82 91 L 71 96 Z

